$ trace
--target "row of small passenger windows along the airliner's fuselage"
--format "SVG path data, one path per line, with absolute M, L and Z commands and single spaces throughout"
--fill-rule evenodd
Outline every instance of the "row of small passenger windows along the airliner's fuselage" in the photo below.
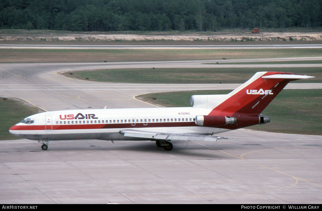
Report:
M 193 118 L 193 120 L 195 121 L 195 118 Z M 184 122 L 184 121 L 192 121 L 192 118 L 175 118 L 175 119 L 132 119 L 132 121 L 129 119 L 121 119 L 121 120 L 83 120 L 83 121 L 56 121 L 56 124 L 97 124 L 97 123 L 139 123 L 139 122 L 144 122 L 144 123 L 147 123 L 147 122 Z

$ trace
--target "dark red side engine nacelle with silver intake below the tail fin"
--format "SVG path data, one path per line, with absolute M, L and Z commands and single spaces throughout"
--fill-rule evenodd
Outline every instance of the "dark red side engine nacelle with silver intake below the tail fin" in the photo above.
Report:
M 211 115 L 197 115 L 196 122 L 200 126 L 224 126 L 228 124 L 236 124 L 237 119 L 230 116 L 211 116 Z

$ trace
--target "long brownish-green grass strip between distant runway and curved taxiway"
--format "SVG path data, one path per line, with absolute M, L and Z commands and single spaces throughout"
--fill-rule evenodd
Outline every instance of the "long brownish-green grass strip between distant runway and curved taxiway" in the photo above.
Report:
M 322 56 L 322 49 L 1 49 L 0 63 L 261 59 Z

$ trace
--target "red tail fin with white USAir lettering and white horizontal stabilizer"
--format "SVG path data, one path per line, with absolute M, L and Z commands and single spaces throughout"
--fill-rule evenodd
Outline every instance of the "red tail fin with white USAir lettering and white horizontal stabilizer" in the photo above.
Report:
M 312 78 L 285 72 L 258 72 L 223 98 L 209 115 L 259 115 L 279 92 L 293 80 Z

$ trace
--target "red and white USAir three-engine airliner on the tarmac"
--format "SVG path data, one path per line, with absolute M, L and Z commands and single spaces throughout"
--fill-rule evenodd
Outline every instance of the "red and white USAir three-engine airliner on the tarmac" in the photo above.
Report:
M 172 142 L 216 141 L 214 136 L 270 122 L 260 113 L 293 80 L 311 76 L 258 72 L 227 95 L 191 96 L 192 107 L 50 111 L 25 118 L 9 132 L 43 143 L 55 140 L 151 140 L 166 151 Z M 114 143 L 114 142 L 113 142 Z

